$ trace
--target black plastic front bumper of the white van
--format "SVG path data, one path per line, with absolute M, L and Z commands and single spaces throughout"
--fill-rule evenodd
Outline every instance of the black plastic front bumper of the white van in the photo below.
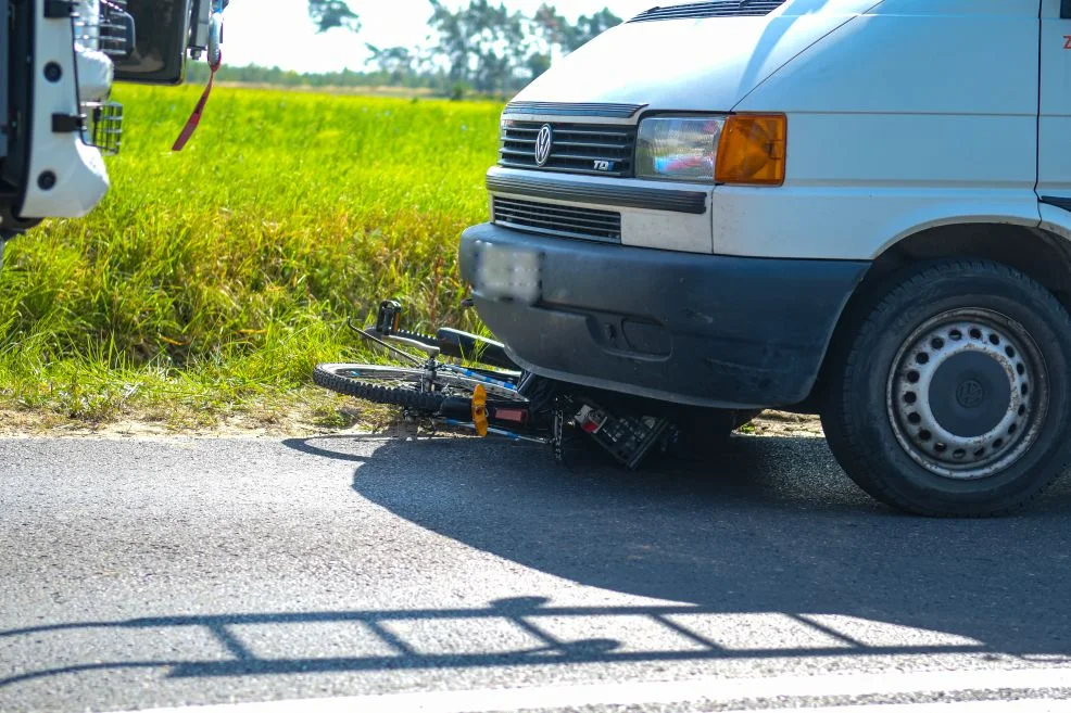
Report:
M 494 254 L 494 259 L 489 256 Z M 518 297 L 503 256 L 538 265 Z M 491 224 L 462 237 L 480 317 L 550 379 L 720 408 L 803 402 L 869 263 L 728 257 L 544 238 Z

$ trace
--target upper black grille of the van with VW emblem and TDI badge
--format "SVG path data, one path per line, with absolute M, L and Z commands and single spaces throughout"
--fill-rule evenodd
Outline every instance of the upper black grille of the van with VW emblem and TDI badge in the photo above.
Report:
M 536 144 L 544 126 L 551 127 L 551 151 L 539 165 Z M 634 126 L 506 120 L 502 124 L 499 165 L 622 178 L 632 175 L 634 150 Z

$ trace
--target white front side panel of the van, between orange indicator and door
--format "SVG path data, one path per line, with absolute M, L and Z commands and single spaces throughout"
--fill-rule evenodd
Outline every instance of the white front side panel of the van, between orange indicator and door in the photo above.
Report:
M 1040 224 L 1037 0 L 885 0 L 735 107 L 789 114 L 782 189 L 722 187 L 715 252 L 871 259 L 950 222 Z

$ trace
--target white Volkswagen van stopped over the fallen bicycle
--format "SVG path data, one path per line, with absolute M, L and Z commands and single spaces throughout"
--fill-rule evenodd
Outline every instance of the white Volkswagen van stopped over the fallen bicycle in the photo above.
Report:
M 1062 473 L 1071 0 L 653 8 L 501 131 L 461 265 L 526 369 L 821 413 L 918 513 L 1008 512 Z

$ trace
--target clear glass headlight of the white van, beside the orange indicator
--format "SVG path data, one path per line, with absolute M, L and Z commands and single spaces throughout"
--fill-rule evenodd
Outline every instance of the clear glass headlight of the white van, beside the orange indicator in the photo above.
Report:
M 637 178 L 714 182 L 723 116 L 656 116 L 640 123 Z

